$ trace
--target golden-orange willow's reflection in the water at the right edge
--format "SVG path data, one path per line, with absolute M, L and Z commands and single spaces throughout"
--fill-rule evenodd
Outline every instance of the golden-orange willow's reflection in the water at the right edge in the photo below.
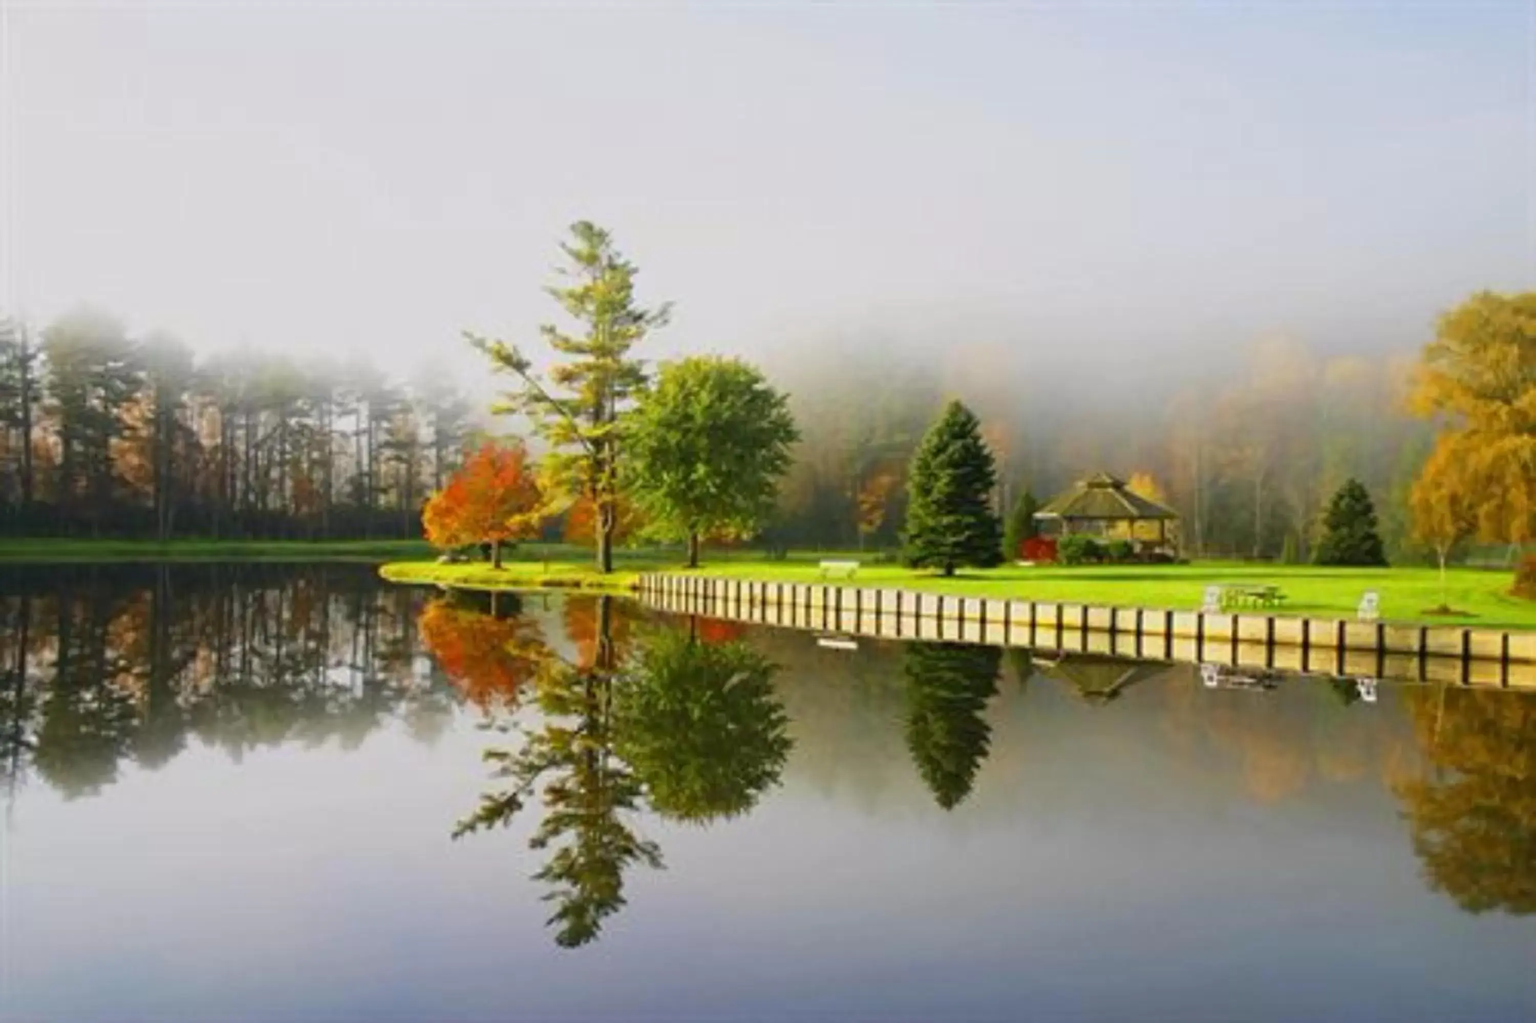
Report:
M 1405 696 L 1428 762 L 1396 785 L 1428 883 L 1468 912 L 1536 912 L 1536 699 Z

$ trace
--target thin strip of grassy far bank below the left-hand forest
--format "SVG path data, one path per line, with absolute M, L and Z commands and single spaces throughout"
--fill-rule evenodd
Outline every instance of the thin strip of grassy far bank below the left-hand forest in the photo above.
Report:
M 154 541 L 0 538 L 0 562 L 66 561 L 398 561 L 425 558 L 421 541 Z

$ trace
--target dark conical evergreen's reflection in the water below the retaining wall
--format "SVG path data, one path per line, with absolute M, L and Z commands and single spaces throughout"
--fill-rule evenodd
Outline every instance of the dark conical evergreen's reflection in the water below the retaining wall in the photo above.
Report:
M 997 647 L 906 645 L 906 747 L 945 809 L 971 794 L 986 759 L 992 728 L 985 711 L 1001 659 Z

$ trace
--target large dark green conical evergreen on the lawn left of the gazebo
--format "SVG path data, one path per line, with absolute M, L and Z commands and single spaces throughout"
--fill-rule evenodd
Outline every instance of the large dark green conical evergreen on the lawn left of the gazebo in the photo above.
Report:
M 992 512 L 995 484 L 997 470 L 982 439 L 982 424 L 963 404 L 949 402 L 912 458 L 906 562 L 942 568 L 946 576 L 958 565 L 998 564 L 1003 538 Z

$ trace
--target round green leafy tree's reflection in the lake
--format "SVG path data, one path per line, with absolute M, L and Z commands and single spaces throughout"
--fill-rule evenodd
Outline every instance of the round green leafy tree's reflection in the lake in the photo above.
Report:
M 774 665 L 743 642 L 657 633 L 614 690 L 616 750 L 651 808 L 703 823 L 745 814 L 779 782 L 793 742 Z

